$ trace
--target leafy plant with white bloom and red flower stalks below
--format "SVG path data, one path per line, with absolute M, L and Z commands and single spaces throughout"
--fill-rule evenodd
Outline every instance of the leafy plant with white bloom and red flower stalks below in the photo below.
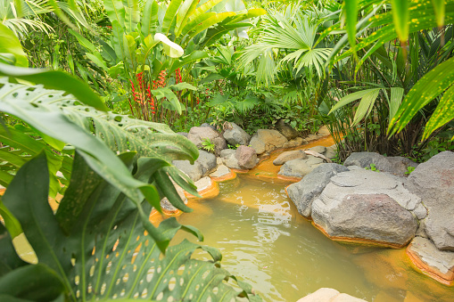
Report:
M 263 13 L 262 10 L 210 12 L 220 2 L 210 0 L 198 4 L 195 0 L 184 3 L 173 0 L 167 5 L 149 0 L 140 10 L 137 1 L 126 5 L 106 0 L 104 6 L 111 20 L 112 36 L 109 43 L 103 43 L 101 52 L 84 37 L 72 33 L 89 50 L 87 56 L 91 60 L 112 78 L 120 76 L 126 82 L 130 109 L 136 117 L 146 120 L 166 117 L 169 121 L 174 115 L 172 111 L 181 114 L 186 109 L 181 104 L 182 93 L 176 95 L 171 86 L 182 81 L 180 69 L 206 57 L 208 54 L 202 51 L 206 45 L 232 29 L 248 25 L 240 23 L 242 20 Z M 175 78 L 168 79 L 176 71 Z M 177 91 L 182 89 L 194 90 L 194 86 L 177 87 Z

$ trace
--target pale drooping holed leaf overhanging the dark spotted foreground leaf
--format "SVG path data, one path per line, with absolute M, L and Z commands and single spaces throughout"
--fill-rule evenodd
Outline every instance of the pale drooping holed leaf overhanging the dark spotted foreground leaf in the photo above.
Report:
M 95 135 L 102 137 L 104 142 L 114 150 L 126 151 L 130 148 L 140 151 L 141 154 L 146 153 L 146 155 L 169 159 L 169 161 L 194 160 L 198 154 L 194 144 L 186 138 L 181 140 L 177 137 L 181 135 L 169 135 L 169 127 L 153 123 L 144 124 L 142 121 L 134 124 L 134 119 L 127 120 L 124 117 L 122 120 L 122 117 L 111 113 L 106 116 L 102 111 L 71 106 L 77 101 L 70 94 L 64 95 L 63 92 L 45 90 L 40 86 L 23 86 L 5 83 L 5 81 L 0 88 L 0 94 L 3 95 L 0 100 L 0 110 L 21 118 L 41 133 L 78 148 L 90 167 L 124 192 L 139 208 L 144 197 L 151 202 L 155 200 L 154 187 L 132 178 L 128 169 L 109 147 L 92 135 L 94 120 L 96 120 Z M 37 95 L 40 98 L 36 98 Z M 128 121 L 132 125 L 129 125 Z M 115 124 L 122 127 L 118 125 L 115 127 Z M 148 130 L 150 127 L 162 133 L 151 135 Z M 125 128 L 128 130 L 121 130 Z M 184 145 L 183 149 L 179 146 L 179 142 Z M 153 225 L 147 223 L 147 216 L 141 213 L 142 222 L 146 224 L 148 232 L 155 236 L 160 249 L 165 249 L 169 241 L 156 232 Z

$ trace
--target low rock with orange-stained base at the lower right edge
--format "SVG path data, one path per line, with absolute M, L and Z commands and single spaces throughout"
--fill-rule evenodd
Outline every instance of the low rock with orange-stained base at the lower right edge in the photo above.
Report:
M 446 281 L 454 279 L 454 252 L 439 250 L 432 241 L 423 237 L 415 237 L 407 251 L 417 258 L 419 265 L 424 265 L 426 271 Z M 413 257 L 412 261 L 415 260 Z

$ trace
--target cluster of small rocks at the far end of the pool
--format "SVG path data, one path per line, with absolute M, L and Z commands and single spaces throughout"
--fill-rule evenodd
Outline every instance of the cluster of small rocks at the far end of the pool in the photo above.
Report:
M 314 135 L 314 138 L 326 135 L 326 129 L 321 128 L 319 135 Z M 244 129 L 235 123 L 225 123 L 224 131 L 220 133 L 215 127 L 209 124 L 202 124 L 200 127 L 192 127 L 189 133 L 179 132 L 178 135 L 184 135 L 188 140 L 194 143 L 199 149 L 199 158 L 191 165 L 188 160 L 174 160 L 173 164 L 185 172 L 194 182 L 204 176 L 212 174 L 213 177 L 228 175 L 230 168 L 247 170 L 255 167 L 259 163 L 258 156 L 268 151 L 273 151 L 279 148 L 292 148 L 307 142 L 307 140 L 298 137 L 298 132 L 283 120 L 277 123 L 277 130 L 274 129 L 259 129 L 255 135 L 248 135 Z M 205 142 L 210 142 L 214 146 L 212 153 L 204 151 Z M 235 146 L 236 149 L 227 149 L 227 143 L 230 146 Z M 325 147 L 323 147 L 325 148 Z M 334 157 L 334 150 L 326 150 L 326 156 Z M 301 157 L 293 159 L 308 159 L 302 151 L 295 151 L 301 154 Z M 325 152 L 321 151 L 322 153 Z M 325 154 L 325 153 L 324 153 Z M 313 157 L 310 156 L 310 159 Z M 290 158 L 284 159 L 282 164 Z M 313 162 L 312 162 L 313 161 Z M 317 164 L 322 163 L 323 159 L 312 159 L 308 164 L 310 169 L 305 169 L 305 174 Z M 313 167 L 312 167 L 313 166 Z M 296 168 L 298 170 L 298 168 Z M 287 171 L 288 172 L 285 172 Z M 297 175 L 301 177 L 301 173 L 292 172 L 292 168 L 288 165 L 283 168 L 282 175 Z M 218 176 L 215 176 L 218 175 Z

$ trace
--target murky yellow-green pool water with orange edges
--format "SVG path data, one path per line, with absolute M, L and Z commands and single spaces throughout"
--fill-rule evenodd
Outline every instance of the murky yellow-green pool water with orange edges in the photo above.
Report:
M 454 288 L 418 273 L 405 249 L 326 238 L 299 216 L 286 184 L 239 175 L 220 184 L 219 197 L 191 201 L 194 212 L 177 219 L 198 227 L 204 244 L 221 250 L 222 267 L 265 301 L 296 301 L 322 287 L 367 301 L 454 301 Z

